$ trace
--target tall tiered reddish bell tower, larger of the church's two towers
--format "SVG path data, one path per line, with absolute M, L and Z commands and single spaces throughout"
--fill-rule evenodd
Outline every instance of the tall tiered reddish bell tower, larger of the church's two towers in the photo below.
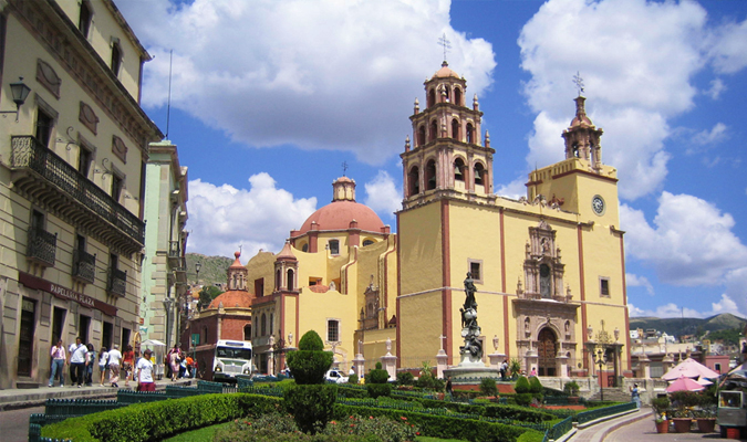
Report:
M 426 80 L 426 107 L 415 99 L 409 117 L 413 139 L 401 155 L 404 172 L 403 208 L 440 198 L 463 198 L 487 202 L 492 194 L 492 155 L 490 138 L 480 138 L 483 113 L 477 95 L 467 107 L 467 82 L 444 62 Z

